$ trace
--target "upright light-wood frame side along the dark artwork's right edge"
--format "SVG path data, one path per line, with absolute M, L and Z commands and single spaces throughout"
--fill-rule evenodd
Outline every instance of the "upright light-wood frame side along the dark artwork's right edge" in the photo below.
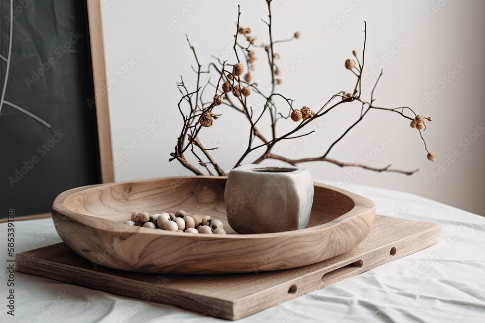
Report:
M 102 183 L 114 182 L 113 149 L 111 146 L 110 113 L 106 94 L 106 66 L 99 0 L 87 0 L 91 64 L 96 102 L 97 141 Z M 101 95 L 105 93 L 105 95 Z

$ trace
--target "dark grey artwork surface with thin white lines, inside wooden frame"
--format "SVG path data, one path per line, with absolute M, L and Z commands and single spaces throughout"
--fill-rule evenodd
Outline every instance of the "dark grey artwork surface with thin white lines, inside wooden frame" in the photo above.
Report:
M 0 218 L 101 183 L 86 1 L 0 2 Z

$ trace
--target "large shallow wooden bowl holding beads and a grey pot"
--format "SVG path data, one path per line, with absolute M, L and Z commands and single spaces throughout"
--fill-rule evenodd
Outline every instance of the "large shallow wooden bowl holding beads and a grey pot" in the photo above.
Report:
M 191 176 L 84 186 L 60 194 L 52 204 L 52 218 L 67 246 L 93 265 L 177 274 L 258 272 L 316 263 L 362 242 L 374 220 L 371 200 L 315 183 L 306 229 L 237 234 L 226 219 L 225 185 L 226 177 Z M 227 234 L 123 223 L 134 211 L 180 209 L 221 220 Z

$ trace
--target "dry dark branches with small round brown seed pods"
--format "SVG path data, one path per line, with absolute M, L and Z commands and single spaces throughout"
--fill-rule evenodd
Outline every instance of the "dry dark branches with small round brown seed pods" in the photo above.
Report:
M 222 61 L 219 58 L 216 58 L 217 62 L 211 62 L 210 64 L 208 64 L 207 70 L 203 71 L 202 65 L 199 63 L 199 60 L 197 58 L 195 48 L 194 46 L 192 46 L 189 38 L 187 37 L 187 43 L 189 44 L 190 50 L 194 54 L 194 59 L 197 64 L 196 68 L 192 68 L 194 70 L 194 73 L 196 74 L 196 90 L 193 92 L 189 92 L 182 78 L 181 82 L 177 84 L 179 91 L 182 94 L 182 97 L 178 103 L 178 109 L 183 118 L 183 126 L 180 131 L 175 150 L 173 153 L 170 154 L 170 161 L 178 160 L 185 168 L 194 172 L 194 174 L 203 175 L 203 172 L 200 169 L 189 163 L 187 161 L 187 158 L 185 158 L 184 154 L 187 153 L 187 151 L 190 149 L 190 152 L 197 159 L 199 166 L 206 169 L 210 175 L 212 175 L 212 171 L 210 169 L 215 170 L 217 175 L 226 175 L 226 172 L 210 155 L 209 151 L 212 149 L 205 149 L 201 143 L 200 138 L 198 137 L 204 127 L 210 127 L 214 123 L 228 122 L 228 120 L 223 120 L 224 116 L 220 116 L 212 112 L 213 109 L 218 106 L 231 108 L 238 111 L 242 117 L 242 120 L 245 120 L 250 127 L 248 132 L 246 150 L 242 153 L 240 157 L 237 158 L 234 167 L 245 163 L 249 154 L 256 151 L 261 151 L 259 157 L 252 161 L 253 164 L 259 164 L 265 159 L 276 159 L 289 163 L 291 165 L 297 165 L 305 162 L 321 161 L 329 162 L 338 165 L 339 167 L 360 167 L 376 172 L 398 172 L 406 175 L 411 175 L 418 171 L 418 169 L 412 171 L 391 169 L 390 165 L 384 168 L 377 168 L 358 163 L 343 163 L 336 159 L 328 157 L 328 154 L 330 154 L 332 148 L 337 145 L 339 141 L 344 138 L 352 129 L 354 129 L 354 127 L 356 127 L 356 125 L 363 120 L 363 118 L 368 114 L 370 110 L 394 112 L 401 115 L 401 117 L 403 117 L 404 119 L 411 120 L 410 126 L 419 130 L 420 138 L 424 143 L 424 149 L 428 153 L 428 159 L 433 161 L 435 160 L 436 155 L 428 151 L 426 141 L 424 140 L 421 131 L 424 131 L 426 129 L 424 120 L 426 119 L 427 121 L 431 121 L 430 117 L 423 118 L 422 116 L 417 115 L 414 110 L 409 107 L 383 108 L 373 105 L 375 101 L 374 91 L 382 77 L 382 71 L 379 77 L 377 77 L 377 80 L 372 88 L 370 101 L 365 101 L 362 98 L 361 76 L 364 69 L 364 56 L 367 40 L 367 24 L 365 22 L 364 44 L 361 60 L 359 60 L 357 53 L 354 50 L 353 55 L 357 62 L 351 59 L 345 61 L 345 68 L 350 70 L 356 76 L 356 83 L 354 85 L 353 93 L 340 91 L 332 95 L 330 99 L 317 110 L 317 112 L 314 112 L 307 107 L 303 107 L 301 109 L 293 108 L 294 100 L 287 98 L 281 93 L 275 92 L 276 86 L 281 82 L 281 80 L 278 78 L 279 68 L 275 62 L 275 60 L 279 59 L 280 55 L 278 53 L 275 53 L 274 51 L 275 44 L 286 43 L 298 39 L 300 37 L 300 33 L 295 32 L 293 34 L 293 37 L 291 38 L 274 40 L 272 32 L 273 21 L 269 1 L 267 1 L 267 7 L 268 20 L 261 20 L 268 26 L 269 44 L 255 44 L 256 38 L 252 36 L 251 29 L 248 27 L 240 26 L 241 11 L 240 7 L 238 6 L 238 19 L 236 23 L 236 32 L 234 34 L 233 45 L 235 61 L 233 64 L 229 64 L 227 61 Z M 238 35 L 244 38 L 243 41 L 238 40 Z M 264 50 L 265 56 L 269 64 L 269 70 L 271 73 L 270 93 L 265 93 L 264 91 L 261 91 L 257 83 L 251 82 L 251 72 L 252 70 L 254 70 L 253 63 L 257 59 L 256 50 Z M 240 58 L 243 58 L 245 64 L 241 62 Z M 244 69 L 244 75 L 242 75 L 242 69 Z M 202 73 L 215 74 L 215 76 L 217 77 L 217 84 L 211 83 L 209 78 L 209 81 L 207 81 L 202 86 Z M 208 86 L 214 88 L 215 95 L 213 96 L 213 98 L 210 99 L 210 101 L 207 99 L 204 101 L 202 97 L 205 93 L 204 90 Z M 253 96 L 259 96 L 261 101 L 264 102 L 264 106 L 259 112 L 257 110 L 254 110 L 252 106 L 248 106 L 246 96 L 250 95 L 249 93 L 251 93 L 251 95 Z M 278 97 L 284 99 L 283 107 L 279 107 L 276 104 L 275 99 Z M 322 152 L 321 156 L 289 159 L 278 154 L 274 154 L 272 152 L 275 145 L 282 140 L 291 140 L 311 134 L 313 131 L 307 131 L 303 135 L 300 135 L 297 132 L 299 132 L 300 130 L 304 130 L 304 128 L 308 127 L 308 124 L 312 124 L 316 119 L 322 118 L 332 109 L 339 108 L 340 105 L 348 104 L 351 102 L 359 102 L 361 104 L 359 118 L 354 123 L 352 123 L 335 141 L 333 141 L 330 146 L 326 150 L 324 150 L 324 152 Z M 182 107 L 182 104 L 185 104 L 186 107 Z M 283 113 L 282 111 L 289 112 L 287 114 L 286 112 Z M 263 116 L 268 116 L 270 120 L 269 124 L 267 126 L 264 126 L 264 128 L 268 127 L 271 130 L 270 139 L 267 139 L 259 130 L 261 128 L 259 126 L 259 123 L 261 123 L 262 120 L 265 120 Z M 221 120 L 218 120 L 219 118 Z M 283 122 L 291 122 L 291 120 L 293 120 L 298 123 L 292 130 L 286 132 L 285 134 L 278 135 L 276 127 L 278 120 L 283 120 Z M 196 150 L 200 151 L 202 155 L 199 156 L 196 153 Z

